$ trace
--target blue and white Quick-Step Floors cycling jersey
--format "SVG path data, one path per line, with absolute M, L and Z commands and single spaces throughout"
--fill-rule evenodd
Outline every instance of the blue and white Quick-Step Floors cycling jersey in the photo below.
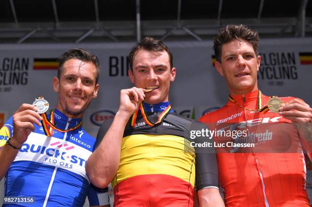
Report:
M 54 112 L 58 129 L 67 130 L 80 122 L 58 110 Z M 13 133 L 11 117 L 0 130 L 0 147 Z M 53 130 L 48 137 L 42 127 L 35 125 L 5 176 L 5 196 L 33 196 L 35 204 L 29 206 L 83 206 L 87 195 L 90 205 L 109 204 L 107 189 L 91 187 L 86 175 L 94 143 L 95 138 L 82 127 L 69 132 Z

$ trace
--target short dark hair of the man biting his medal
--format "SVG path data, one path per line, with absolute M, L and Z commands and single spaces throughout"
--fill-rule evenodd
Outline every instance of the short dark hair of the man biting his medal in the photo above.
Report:
M 172 69 L 173 66 L 173 57 L 169 50 L 169 48 L 163 43 L 161 40 L 155 40 L 151 37 L 145 37 L 141 42 L 137 43 L 130 51 L 128 60 L 130 64 L 130 69 L 133 70 L 133 61 L 136 56 L 136 53 L 140 50 L 144 49 L 147 51 L 153 51 L 153 52 L 162 52 L 166 51 L 169 56 L 169 62 L 170 62 L 170 69 Z

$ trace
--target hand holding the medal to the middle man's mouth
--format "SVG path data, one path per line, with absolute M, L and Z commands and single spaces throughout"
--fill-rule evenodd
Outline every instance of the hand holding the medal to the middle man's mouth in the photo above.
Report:
M 141 101 L 145 98 L 146 90 L 132 87 L 120 91 L 120 105 L 118 111 L 131 116 L 138 109 Z

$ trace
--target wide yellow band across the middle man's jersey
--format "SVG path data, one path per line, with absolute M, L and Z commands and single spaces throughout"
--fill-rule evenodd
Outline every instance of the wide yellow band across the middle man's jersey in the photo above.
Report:
M 194 187 L 195 153 L 187 139 L 173 135 L 139 134 L 124 137 L 121 146 L 113 188 L 117 183 L 144 174 L 172 175 Z

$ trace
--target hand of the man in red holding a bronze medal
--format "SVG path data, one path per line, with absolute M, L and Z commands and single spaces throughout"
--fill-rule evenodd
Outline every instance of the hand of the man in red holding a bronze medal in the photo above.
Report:
M 279 108 L 279 114 L 295 123 L 311 123 L 312 108 L 301 99 L 293 99 Z

